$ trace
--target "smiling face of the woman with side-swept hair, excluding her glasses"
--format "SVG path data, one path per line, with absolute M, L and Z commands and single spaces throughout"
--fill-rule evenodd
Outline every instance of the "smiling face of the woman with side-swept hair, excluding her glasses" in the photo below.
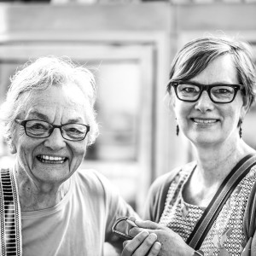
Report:
M 236 67 L 230 55 L 219 56 L 189 81 L 199 84 L 239 84 Z M 244 98 L 241 90 L 237 92 L 233 102 L 224 104 L 213 103 L 205 90 L 197 102 L 182 102 L 175 97 L 173 107 L 177 124 L 195 145 L 239 139 L 237 125 L 247 112 L 248 105 Z

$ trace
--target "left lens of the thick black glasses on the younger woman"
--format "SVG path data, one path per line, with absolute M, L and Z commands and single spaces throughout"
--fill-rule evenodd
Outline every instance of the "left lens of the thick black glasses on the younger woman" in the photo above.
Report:
M 195 101 L 200 95 L 200 87 L 194 84 L 178 84 L 177 96 L 181 100 Z

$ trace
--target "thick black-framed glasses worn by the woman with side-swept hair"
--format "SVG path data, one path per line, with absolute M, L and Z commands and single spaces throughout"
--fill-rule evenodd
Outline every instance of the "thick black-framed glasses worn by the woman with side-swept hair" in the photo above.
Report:
M 196 102 L 204 90 L 214 103 L 233 102 L 237 91 L 244 90 L 242 84 L 198 84 L 189 81 L 170 81 L 168 85 L 173 86 L 176 96 L 183 102 Z

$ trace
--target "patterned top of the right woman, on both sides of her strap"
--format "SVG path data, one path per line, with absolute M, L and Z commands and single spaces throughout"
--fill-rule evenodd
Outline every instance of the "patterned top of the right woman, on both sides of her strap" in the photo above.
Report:
M 191 170 L 181 170 L 173 179 L 160 224 L 164 224 L 186 241 L 201 218 L 204 209 L 183 201 L 183 185 L 189 178 Z M 248 172 L 230 198 L 224 204 L 218 217 L 212 224 L 205 240 L 201 244 L 201 252 L 205 256 L 238 256 L 246 245 L 243 232 L 243 217 L 247 200 L 256 180 L 256 166 Z

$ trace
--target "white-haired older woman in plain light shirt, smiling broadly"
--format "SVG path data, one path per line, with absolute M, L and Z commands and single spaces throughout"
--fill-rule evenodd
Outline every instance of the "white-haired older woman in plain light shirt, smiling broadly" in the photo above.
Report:
M 95 100 L 93 75 L 71 61 L 42 57 L 15 74 L 0 111 L 16 154 L 1 170 L 1 255 L 103 255 L 104 241 L 119 246 L 111 225 L 133 210 L 98 172 L 79 170 L 98 132 Z

